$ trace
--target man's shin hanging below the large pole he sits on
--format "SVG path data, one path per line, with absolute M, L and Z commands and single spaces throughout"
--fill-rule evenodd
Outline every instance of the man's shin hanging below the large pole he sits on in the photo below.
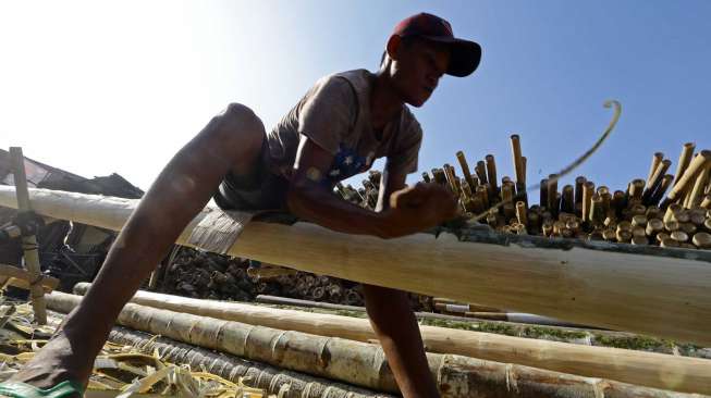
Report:
M 372 285 L 363 285 L 363 291 L 370 324 L 403 397 L 439 397 L 407 294 Z

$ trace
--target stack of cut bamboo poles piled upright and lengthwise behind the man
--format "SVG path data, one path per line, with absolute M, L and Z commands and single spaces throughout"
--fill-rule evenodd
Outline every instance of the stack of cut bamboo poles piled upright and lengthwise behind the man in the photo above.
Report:
M 515 177 L 497 174 L 493 154 L 477 161 L 474 174 L 462 151 L 456 153 L 462 177 L 444 164 L 422 173 L 424 182 L 448 186 L 458 198 L 465 217 L 483 219 L 499 232 L 520 235 L 608 240 L 685 249 L 711 249 L 711 151 L 694 153 L 685 144 L 675 174 L 672 161 L 657 152 L 646 179 L 635 178 L 625 190 L 578 176 L 575 185 L 559 187 L 559 176 L 540 182 L 539 203 L 526 190 L 526 157 L 520 138 L 511 136 Z M 347 200 L 373 208 L 380 173 L 371 172 L 364 188 L 338 187 Z

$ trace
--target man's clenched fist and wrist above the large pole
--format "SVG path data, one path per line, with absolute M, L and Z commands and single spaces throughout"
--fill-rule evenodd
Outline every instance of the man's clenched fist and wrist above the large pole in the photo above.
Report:
M 390 196 L 383 212 L 383 238 L 394 238 L 434 227 L 457 215 L 454 194 L 439 184 L 418 183 Z

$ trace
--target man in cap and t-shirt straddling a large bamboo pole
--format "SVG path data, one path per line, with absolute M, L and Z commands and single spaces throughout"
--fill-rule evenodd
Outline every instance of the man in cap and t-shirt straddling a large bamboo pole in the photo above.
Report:
M 455 39 L 446 21 L 422 13 L 395 27 L 377 74 L 360 70 L 320 79 L 268 135 L 252 110 L 229 105 L 163 169 L 82 304 L 0 393 L 38 396 L 34 388 L 53 387 L 77 396 L 124 303 L 212 196 L 224 209 L 287 209 L 334 231 L 382 238 L 453 217 L 456 200 L 445 188 L 405 188 L 421 141 L 405 103 L 422 105 L 443 74 L 469 75 L 480 57 L 479 45 Z M 333 194 L 336 182 L 381 157 L 387 164 L 376 212 Z M 364 286 L 364 293 L 403 395 L 438 396 L 406 295 L 377 286 Z

